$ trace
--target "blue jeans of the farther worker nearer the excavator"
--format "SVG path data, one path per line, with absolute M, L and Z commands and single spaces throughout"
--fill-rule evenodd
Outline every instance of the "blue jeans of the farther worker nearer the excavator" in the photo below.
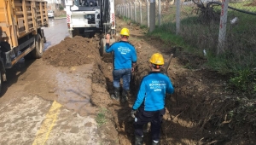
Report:
M 123 89 L 130 90 L 131 68 L 113 70 L 113 87 L 120 87 L 120 79 L 123 79 Z

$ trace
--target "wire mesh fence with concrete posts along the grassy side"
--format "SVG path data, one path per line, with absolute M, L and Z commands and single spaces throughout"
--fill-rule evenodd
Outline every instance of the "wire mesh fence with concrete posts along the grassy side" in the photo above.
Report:
M 137 0 L 119 4 L 117 13 L 149 27 L 152 2 L 155 25 L 176 33 L 200 51 L 251 59 L 238 59 L 244 61 L 255 57 L 256 0 Z

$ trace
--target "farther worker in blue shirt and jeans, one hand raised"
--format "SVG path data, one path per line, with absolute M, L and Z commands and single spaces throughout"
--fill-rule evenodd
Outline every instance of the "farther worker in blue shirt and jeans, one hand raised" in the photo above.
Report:
M 106 35 L 106 49 L 107 53 L 113 52 L 113 94 L 111 97 L 119 101 L 120 79 L 123 80 L 123 91 L 121 95 L 121 102 L 128 100 L 130 94 L 131 73 L 134 72 L 137 63 L 137 51 L 132 44 L 128 42 L 130 31 L 123 28 L 120 32 L 120 41 L 110 43 L 110 35 Z

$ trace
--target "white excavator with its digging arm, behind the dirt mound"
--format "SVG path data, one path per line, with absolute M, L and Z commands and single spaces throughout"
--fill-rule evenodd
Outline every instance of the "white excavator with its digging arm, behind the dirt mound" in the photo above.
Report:
M 115 42 L 114 0 L 66 0 L 65 5 L 69 37 L 90 38 L 96 33 L 102 34 L 100 53 L 103 60 L 111 60 L 112 56 L 105 52 L 105 36 L 110 34 L 110 43 Z

